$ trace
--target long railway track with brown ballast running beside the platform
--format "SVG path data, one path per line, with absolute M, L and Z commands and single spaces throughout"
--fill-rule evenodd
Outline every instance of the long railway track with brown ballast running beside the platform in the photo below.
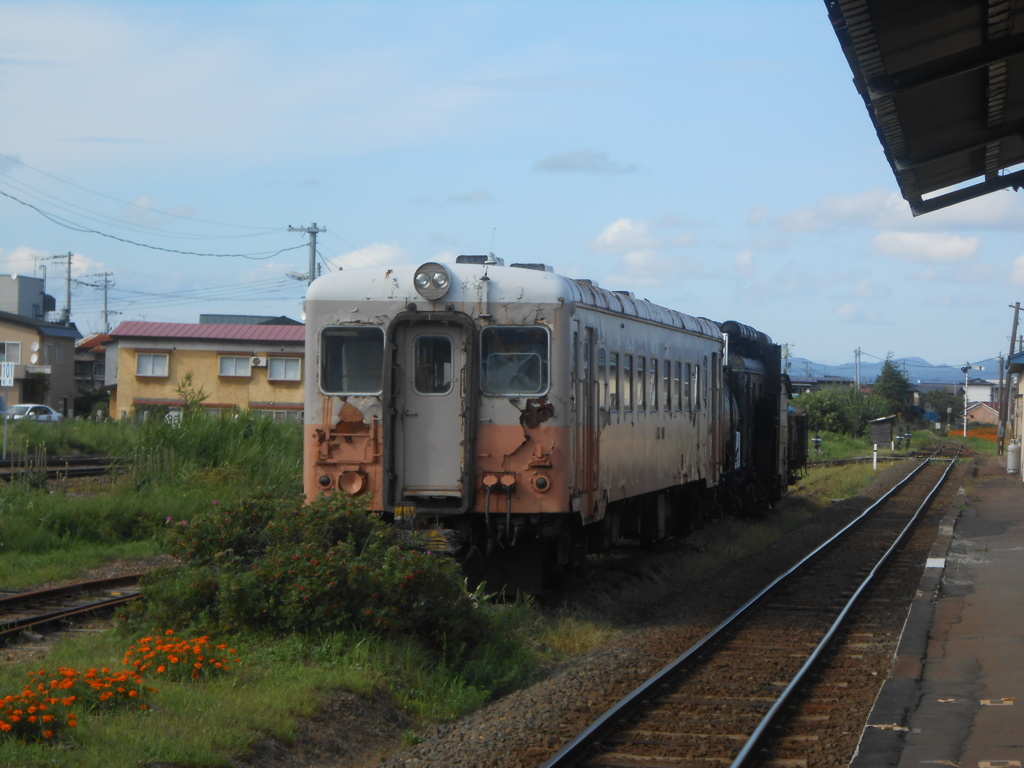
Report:
M 543 768 L 750 766 L 953 464 L 940 456 L 618 701 Z M 799 740 L 799 736 L 790 739 Z M 776 743 L 799 754 L 800 745 Z M 788 758 L 786 765 L 804 764 Z

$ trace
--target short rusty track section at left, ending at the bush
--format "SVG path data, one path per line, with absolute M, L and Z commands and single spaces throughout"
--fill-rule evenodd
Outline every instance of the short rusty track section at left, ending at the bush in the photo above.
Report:
M 0 643 L 138 597 L 140 573 L 0 595 Z

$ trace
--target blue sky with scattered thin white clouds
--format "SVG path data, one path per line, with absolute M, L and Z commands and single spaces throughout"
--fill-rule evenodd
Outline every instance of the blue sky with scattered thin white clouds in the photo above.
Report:
M 828 366 L 1006 354 L 1024 203 L 913 217 L 820 0 L 0 3 L 0 274 L 83 334 L 494 252 Z M 296 279 L 299 278 L 299 279 Z M 106 285 L 105 291 L 103 285 Z

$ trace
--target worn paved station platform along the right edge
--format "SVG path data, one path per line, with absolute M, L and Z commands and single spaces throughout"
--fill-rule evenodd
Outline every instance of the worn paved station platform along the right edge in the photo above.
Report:
M 962 479 L 851 768 L 1024 765 L 1024 483 Z

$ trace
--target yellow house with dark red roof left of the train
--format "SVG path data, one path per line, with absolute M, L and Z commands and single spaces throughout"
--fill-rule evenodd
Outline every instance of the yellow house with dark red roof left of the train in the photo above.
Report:
M 111 416 L 180 413 L 183 394 L 202 390 L 204 411 L 238 408 L 301 419 L 304 342 L 299 324 L 122 323 L 106 344 Z

